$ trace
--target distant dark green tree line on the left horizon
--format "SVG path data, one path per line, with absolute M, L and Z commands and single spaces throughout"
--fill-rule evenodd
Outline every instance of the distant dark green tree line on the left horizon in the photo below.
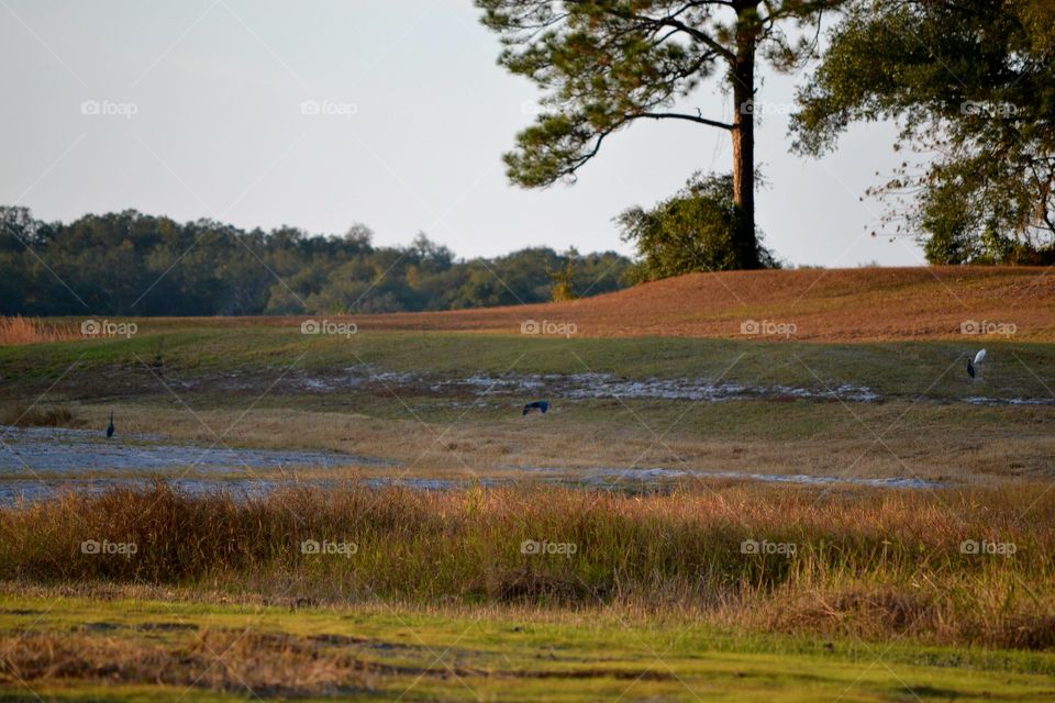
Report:
M 338 236 L 212 220 L 88 214 L 43 222 L 0 207 L 0 313 L 257 315 L 451 310 L 610 292 L 632 263 L 613 252 L 525 248 L 456 259 L 419 234 L 375 246 L 369 227 Z

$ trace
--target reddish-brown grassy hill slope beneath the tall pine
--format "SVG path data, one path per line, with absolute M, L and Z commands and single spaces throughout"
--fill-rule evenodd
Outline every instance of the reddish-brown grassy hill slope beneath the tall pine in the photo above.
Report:
M 1023 267 L 798 269 L 690 274 L 563 303 L 356 317 L 363 330 L 519 332 L 571 323 L 580 336 L 744 337 L 747 321 L 824 342 L 962 338 L 988 322 L 1055 342 L 1055 275 Z

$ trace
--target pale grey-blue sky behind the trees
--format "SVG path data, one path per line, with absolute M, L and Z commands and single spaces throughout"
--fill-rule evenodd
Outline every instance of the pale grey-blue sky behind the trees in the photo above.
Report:
M 496 64 L 468 0 L 0 0 L 0 204 L 44 220 L 134 208 L 325 234 L 363 222 L 381 245 L 422 230 L 463 257 L 631 254 L 614 215 L 731 168 L 724 131 L 664 121 L 610 137 L 575 186 L 510 186 L 500 157 L 537 93 Z M 821 160 L 788 153 L 779 103 L 803 79 L 766 75 L 758 94 L 777 113 L 756 146 L 767 245 L 798 265 L 923 263 L 868 236 L 882 203 L 859 201 L 899 160 L 889 125 Z M 709 85 L 684 107 L 728 119 L 728 103 Z

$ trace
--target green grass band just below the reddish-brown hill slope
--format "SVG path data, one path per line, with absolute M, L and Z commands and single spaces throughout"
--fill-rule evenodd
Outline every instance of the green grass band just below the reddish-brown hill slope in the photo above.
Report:
M 885 398 L 963 400 L 1050 398 L 1043 379 L 1055 375 L 1055 346 L 1007 341 L 963 343 L 811 344 L 687 338 L 545 338 L 522 335 L 370 332 L 342 336 L 301 335 L 271 325 L 195 323 L 152 328 L 142 321 L 130 339 L 0 348 L 0 375 L 11 382 L 40 383 L 68 372 L 73 386 L 90 384 L 104 369 L 145 375 L 143 364 L 163 361 L 173 378 L 232 371 L 275 375 L 293 366 L 340 375 L 364 365 L 427 379 L 473 375 L 611 373 L 625 379 L 721 379 L 824 392 L 867 387 Z M 964 370 L 967 354 L 986 346 L 981 380 Z M 70 366 L 77 361 L 74 371 Z M 86 378 L 87 377 L 87 378 Z

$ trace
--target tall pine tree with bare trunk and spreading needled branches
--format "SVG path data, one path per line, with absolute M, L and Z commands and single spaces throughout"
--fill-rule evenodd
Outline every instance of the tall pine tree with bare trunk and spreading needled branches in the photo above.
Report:
M 733 141 L 735 257 L 722 267 L 757 268 L 755 241 L 755 64 L 790 70 L 814 55 L 824 10 L 845 0 L 476 0 L 501 37 L 499 64 L 544 97 L 535 123 L 504 155 L 525 188 L 574 181 L 601 143 L 637 120 L 678 120 L 726 130 Z M 732 93 L 731 122 L 677 102 L 718 76 Z

